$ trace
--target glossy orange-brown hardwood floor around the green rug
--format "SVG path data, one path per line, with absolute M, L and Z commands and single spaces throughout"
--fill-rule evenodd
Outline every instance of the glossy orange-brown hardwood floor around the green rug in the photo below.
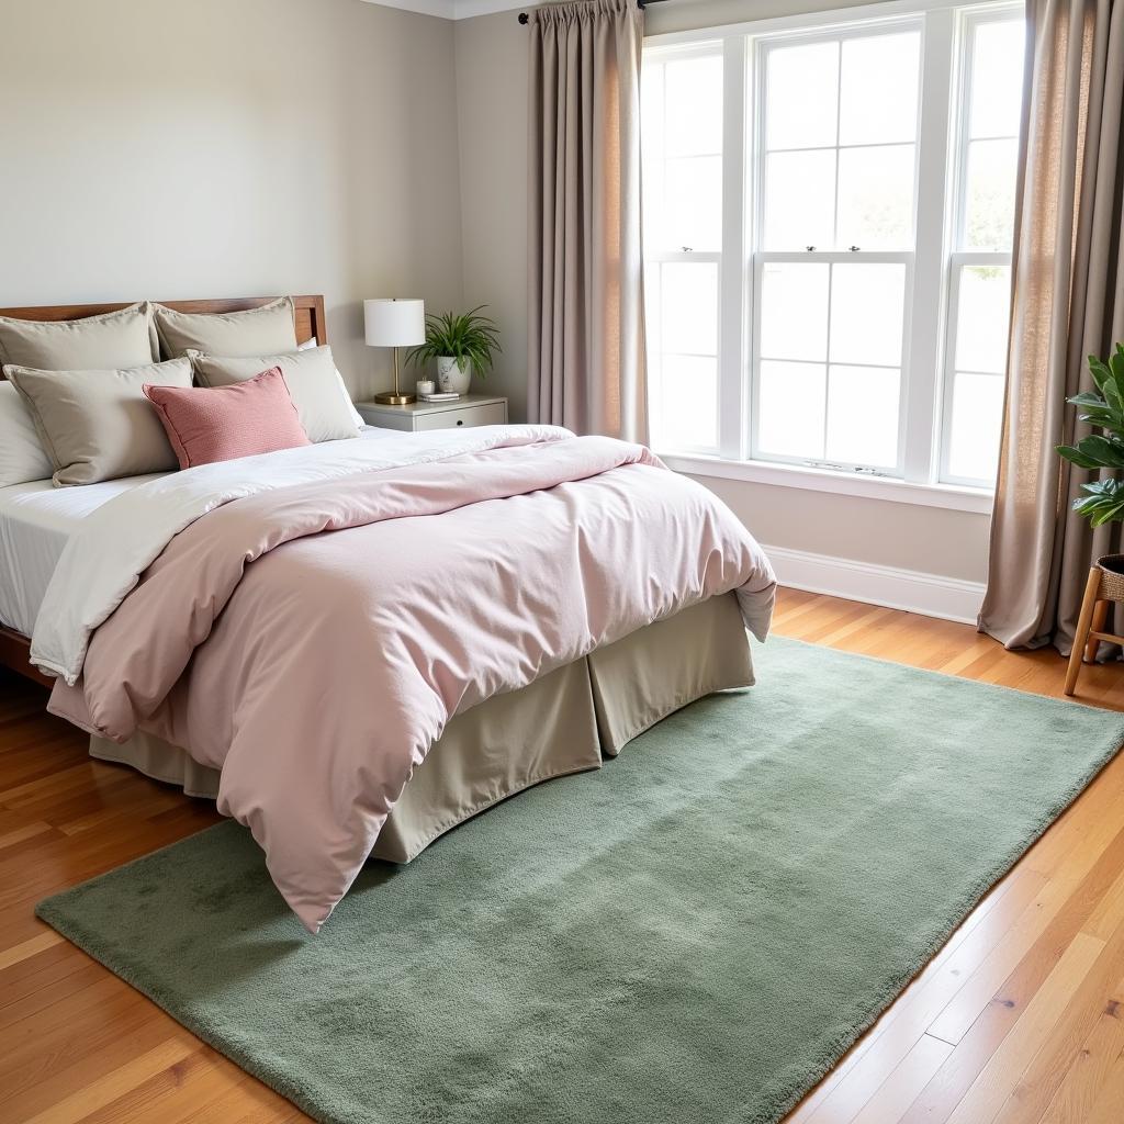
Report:
M 1052 651 L 810 593 L 782 595 L 776 631 L 1041 695 L 1060 697 L 1066 672 Z M 306 1120 L 33 916 L 45 895 L 217 819 L 91 761 L 45 697 L 0 679 L 0 1120 Z M 1124 667 L 1086 668 L 1078 697 L 1124 710 Z M 1124 754 L 790 1120 L 1124 1121 Z

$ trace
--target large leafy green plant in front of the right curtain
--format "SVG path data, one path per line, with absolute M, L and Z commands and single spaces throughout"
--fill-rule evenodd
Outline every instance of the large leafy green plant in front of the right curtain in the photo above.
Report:
M 1097 392 L 1087 390 L 1069 401 L 1080 410 L 1079 420 L 1100 432 L 1076 445 L 1059 445 L 1058 452 L 1081 469 L 1124 469 L 1124 344 L 1116 345 L 1107 362 L 1090 355 L 1089 372 Z M 1094 480 L 1081 484 L 1081 491 L 1073 510 L 1094 527 L 1124 520 L 1124 480 Z

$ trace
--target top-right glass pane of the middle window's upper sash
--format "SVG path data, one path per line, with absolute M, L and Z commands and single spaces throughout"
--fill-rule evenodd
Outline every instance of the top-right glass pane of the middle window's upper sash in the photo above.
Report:
M 917 137 L 921 34 L 843 42 L 840 144 Z

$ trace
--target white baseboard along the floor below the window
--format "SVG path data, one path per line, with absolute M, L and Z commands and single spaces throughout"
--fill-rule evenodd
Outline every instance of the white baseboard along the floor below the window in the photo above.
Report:
M 885 605 L 891 609 L 906 609 L 926 617 L 970 625 L 976 624 L 984 601 L 986 587 L 981 581 L 963 581 L 918 570 L 899 570 L 873 562 L 761 545 L 777 571 L 777 580 L 791 589 Z

